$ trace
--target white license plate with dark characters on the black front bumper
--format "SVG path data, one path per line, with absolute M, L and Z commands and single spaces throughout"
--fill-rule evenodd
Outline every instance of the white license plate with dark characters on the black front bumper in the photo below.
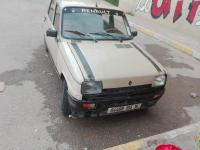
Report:
M 118 113 L 118 112 L 138 110 L 141 108 L 141 106 L 142 104 L 134 104 L 134 105 L 127 105 L 127 106 L 120 106 L 120 107 L 112 107 L 112 108 L 108 108 L 107 113 L 113 114 L 113 113 Z

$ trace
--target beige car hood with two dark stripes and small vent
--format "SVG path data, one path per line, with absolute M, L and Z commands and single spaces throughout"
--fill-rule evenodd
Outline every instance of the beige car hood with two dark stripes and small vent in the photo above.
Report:
M 104 88 L 151 84 L 161 66 L 134 42 L 70 43 L 86 81 L 102 81 Z

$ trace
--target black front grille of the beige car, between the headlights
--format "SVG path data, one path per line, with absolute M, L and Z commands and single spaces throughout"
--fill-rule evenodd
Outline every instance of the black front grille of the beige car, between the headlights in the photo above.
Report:
M 122 100 L 147 100 L 152 99 L 156 93 L 162 92 L 164 87 L 153 88 L 150 84 L 134 87 L 103 89 L 102 93 L 83 95 L 84 100 L 89 101 L 122 101 Z

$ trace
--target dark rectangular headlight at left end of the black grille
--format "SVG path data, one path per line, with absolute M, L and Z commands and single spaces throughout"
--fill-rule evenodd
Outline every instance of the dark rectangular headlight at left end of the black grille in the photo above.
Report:
M 102 92 L 102 82 L 101 81 L 86 81 L 81 85 L 82 94 L 99 94 Z

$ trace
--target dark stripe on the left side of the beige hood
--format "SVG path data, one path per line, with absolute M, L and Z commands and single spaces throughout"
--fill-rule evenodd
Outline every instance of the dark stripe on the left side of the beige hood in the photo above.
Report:
M 94 74 L 92 72 L 92 69 L 90 68 L 90 65 L 88 64 L 87 60 L 85 59 L 85 56 L 83 55 L 83 53 L 81 52 L 80 48 L 78 47 L 78 45 L 76 43 L 71 43 L 72 47 L 74 48 L 76 54 L 78 55 L 83 68 L 88 76 L 89 80 L 95 80 Z

